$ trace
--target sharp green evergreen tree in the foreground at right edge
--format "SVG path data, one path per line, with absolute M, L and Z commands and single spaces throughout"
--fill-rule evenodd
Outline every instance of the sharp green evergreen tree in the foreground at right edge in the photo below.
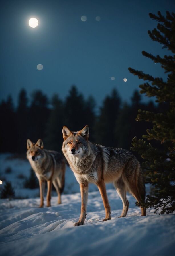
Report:
M 172 55 L 153 56 L 145 51 L 142 54 L 161 64 L 165 73 L 168 73 L 167 81 L 132 68 L 129 71 L 148 81 L 139 86 L 140 93 L 148 97 L 155 96 L 156 102 L 164 104 L 166 110 L 139 110 L 136 120 L 153 124 L 152 129 L 146 130 L 147 135 L 143 135 L 143 138 L 157 141 L 159 147 L 155 148 L 151 143 L 135 137 L 131 149 L 141 154 L 144 160 L 142 166 L 147 174 L 146 182 L 154 187 L 153 194 L 147 195 L 145 206 L 154 207 L 155 213 L 159 210 L 161 214 L 169 214 L 175 210 L 175 14 L 166 12 L 164 17 L 158 12 L 158 15 L 150 13 L 149 16 L 158 21 L 157 29 L 148 31 L 150 38 L 162 44 Z

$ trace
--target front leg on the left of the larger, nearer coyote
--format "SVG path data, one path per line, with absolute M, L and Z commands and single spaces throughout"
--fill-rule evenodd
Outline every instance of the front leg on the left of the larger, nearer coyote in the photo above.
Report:
M 74 224 L 75 226 L 80 226 L 84 224 L 84 220 L 86 218 L 86 206 L 87 206 L 87 195 L 88 195 L 88 183 L 80 183 L 80 192 L 82 197 L 82 205 L 81 205 L 81 214 L 78 222 Z

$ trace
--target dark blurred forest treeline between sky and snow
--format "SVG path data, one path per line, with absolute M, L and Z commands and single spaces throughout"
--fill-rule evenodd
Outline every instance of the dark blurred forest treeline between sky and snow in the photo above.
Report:
M 117 90 L 113 89 L 97 114 L 95 99 L 92 96 L 85 99 L 75 86 L 64 101 L 57 94 L 49 101 L 38 90 L 32 93 L 29 102 L 27 92 L 22 89 L 16 109 L 11 96 L 0 104 L 0 152 L 23 153 L 27 139 L 36 142 L 39 138 L 44 141 L 45 148 L 60 151 L 63 125 L 72 131 L 89 125 L 90 141 L 129 149 L 132 138 L 141 137 L 145 132 L 145 122 L 135 121 L 137 110 L 156 112 L 161 107 L 154 106 L 152 102 L 141 103 L 138 91 L 134 91 L 131 104 L 122 104 Z

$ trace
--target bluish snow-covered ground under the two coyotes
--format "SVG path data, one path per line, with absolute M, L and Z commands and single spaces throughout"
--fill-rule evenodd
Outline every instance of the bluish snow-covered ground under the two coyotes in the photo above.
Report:
M 13 182 L 16 193 L 23 193 L 17 175 L 29 175 L 30 165 L 26 160 L 5 160 L 6 157 L 0 156 L 1 177 Z M 4 172 L 8 166 L 11 174 Z M 52 197 L 52 206 L 44 208 L 38 208 L 40 199 L 35 195 L 29 199 L 0 200 L 0 255 L 175 255 L 175 216 L 154 214 L 151 209 L 146 217 L 141 217 L 135 199 L 128 195 L 127 217 L 117 218 L 123 206 L 110 187 L 107 194 L 112 219 L 102 221 L 102 199 L 91 186 L 87 219 L 83 226 L 74 227 L 80 216 L 81 196 L 69 168 L 66 179 L 61 205 L 57 205 L 56 196 Z M 26 189 L 25 193 L 31 197 L 30 192 Z

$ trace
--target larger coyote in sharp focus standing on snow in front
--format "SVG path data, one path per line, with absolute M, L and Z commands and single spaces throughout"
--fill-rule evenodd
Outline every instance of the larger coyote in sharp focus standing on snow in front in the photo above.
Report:
M 63 127 L 62 152 L 80 184 L 82 206 L 80 219 L 74 226 L 84 224 L 86 218 L 88 183 L 98 186 L 105 207 L 105 220 L 111 219 L 111 208 L 107 199 L 105 182 L 112 182 L 123 202 L 120 217 L 125 217 L 129 202 L 126 191 L 129 191 L 141 203 L 145 201 L 145 183 L 140 164 L 135 156 L 121 148 L 109 148 L 88 141 L 89 127 L 86 125 L 77 132 Z M 142 216 L 146 210 L 141 207 Z

